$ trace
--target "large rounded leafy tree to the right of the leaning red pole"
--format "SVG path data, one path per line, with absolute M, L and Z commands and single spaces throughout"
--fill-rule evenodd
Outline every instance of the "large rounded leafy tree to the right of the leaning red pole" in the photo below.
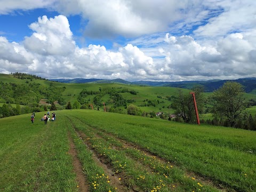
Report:
M 244 89 L 240 83 L 228 81 L 220 89 L 213 92 L 215 100 L 213 114 L 225 117 L 229 126 L 234 127 L 236 119 L 245 109 Z

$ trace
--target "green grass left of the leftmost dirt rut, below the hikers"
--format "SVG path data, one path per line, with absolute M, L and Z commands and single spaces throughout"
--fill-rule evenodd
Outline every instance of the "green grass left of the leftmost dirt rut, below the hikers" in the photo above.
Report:
M 0 119 L 0 191 L 75 191 L 67 127 L 39 122 L 43 113 Z

